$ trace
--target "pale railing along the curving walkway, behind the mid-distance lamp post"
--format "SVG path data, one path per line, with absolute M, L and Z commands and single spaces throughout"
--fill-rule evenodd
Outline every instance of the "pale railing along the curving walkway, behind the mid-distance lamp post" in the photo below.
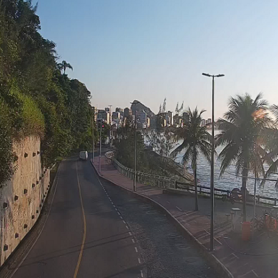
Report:
M 117 161 L 117 159 L 111 154 L 111 152 L 109 152 L 109 154 L 107 155 L 106 154 L 106 159 L 114 165 L 118 172 L 120 172 L 125 177 L 128 177 L 129 179 L 134 179 L 133 169 L 122 165 L 122 163 Z M 159 176 L 157 174 L 148 174 L 145 172 L 136 171 L 136 181 L 147 186 L 158 186 L 159 188 L 174 188 L 176 180 L 169 177 Z

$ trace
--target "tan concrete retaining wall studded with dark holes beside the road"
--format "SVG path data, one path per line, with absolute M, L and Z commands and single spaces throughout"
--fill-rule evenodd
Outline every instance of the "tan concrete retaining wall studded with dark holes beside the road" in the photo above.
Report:
M 40 138 L 14 145 L 17 172 L 0 188 L 0 265 L 33 227 L 49 189 L 50 170 L 42 168 Z

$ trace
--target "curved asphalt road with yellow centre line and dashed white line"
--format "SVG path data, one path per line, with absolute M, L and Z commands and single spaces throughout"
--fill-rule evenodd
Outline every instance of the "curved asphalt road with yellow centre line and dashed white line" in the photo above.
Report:
M 49 218 L 13 278 L 215 277 L 152 206 L 101 183 L 90 161 L 57 174 Z

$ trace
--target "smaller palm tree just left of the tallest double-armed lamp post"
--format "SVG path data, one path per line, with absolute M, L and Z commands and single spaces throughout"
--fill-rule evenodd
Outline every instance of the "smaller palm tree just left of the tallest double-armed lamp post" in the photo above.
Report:
M 172 156 L 177 156 L 185 149 L 182 158 L 183 165 L 191 163 L 194 172 L 195 211 L 199 210 L 197 195 L 197 160 L 199 154 L 202 153 L 207 161 L 211 161 L 211 135 L 206 131 L 206 126 L 201 126 L 202 113 L 204 112 L 202 110 L 199 113 L 197 107 L 194 111 L 188 109 L 189 123 L 176 131 L 176 139 L 183 140 L 183 142 L 172 152 Z

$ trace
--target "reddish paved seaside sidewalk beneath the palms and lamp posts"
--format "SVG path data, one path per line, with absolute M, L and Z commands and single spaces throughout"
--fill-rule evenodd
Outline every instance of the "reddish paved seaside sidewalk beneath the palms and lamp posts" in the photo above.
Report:
M 98 159 L 95 160 L 98 170 Z M 117 186 L 133 190 L 133 181 L 122 176 L 113 165 L 101 158 L 101 177 L 108 179 Z M 224 269 L 226 277 L 277 277 L 278 273 L 278 236 L 269 238 L 267 233 L 256 235 L 256 240 L 245 242 L 231 231 L 226 213 L 231 207 L 241 208 L 241 204 L 231 205 L 229 202 L 215 200 L 215 251 L 209 252 L 210 220 L 209 199 L 199 198 L 199 211 L 194 211 L 195 200 L 190 196 L 163 194 L 161 188 L 136 183 L 136 193 L 148 197 L 163 206 L 179 222 L 186 233 L 190 234 L 199 249 L 218 267 Z M 252 207 L 247 214 L 252 215 Z

